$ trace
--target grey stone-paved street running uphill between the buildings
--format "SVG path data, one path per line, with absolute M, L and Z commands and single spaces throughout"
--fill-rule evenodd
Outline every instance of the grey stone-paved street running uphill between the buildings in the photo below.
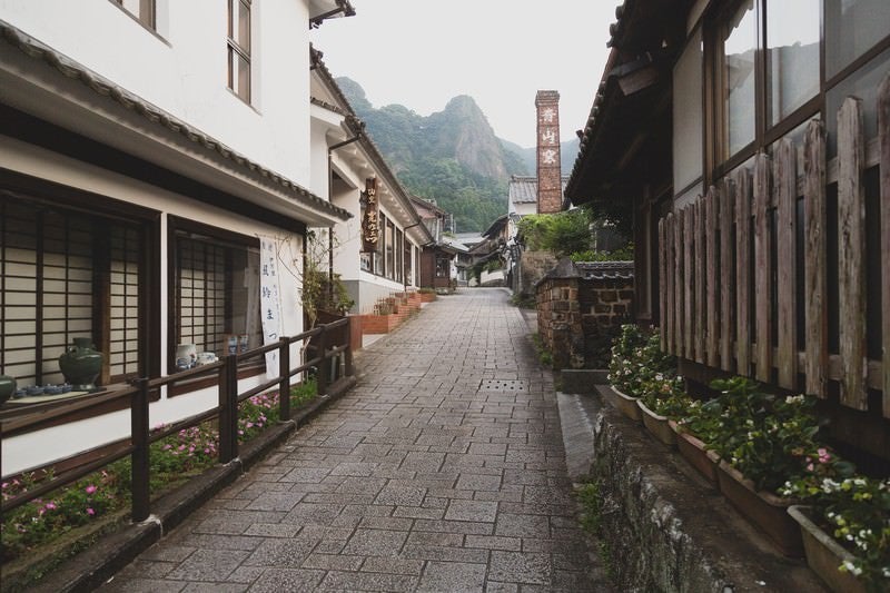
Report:
M 507 299 L 465 288 L 373 344 L 349 394 L 103 590 L 605 590 Z

